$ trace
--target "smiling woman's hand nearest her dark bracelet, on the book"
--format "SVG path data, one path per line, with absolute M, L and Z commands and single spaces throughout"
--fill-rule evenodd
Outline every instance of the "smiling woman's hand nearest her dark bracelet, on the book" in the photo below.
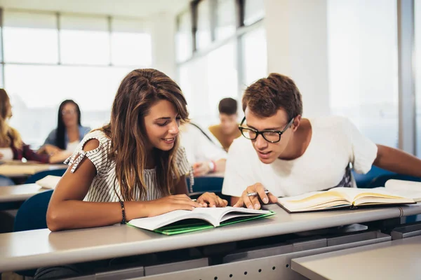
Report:
M 147 217 L 154 217 L 175 210 L 193 210 L 202 207 L 200 203 L 194 202 L 187 195 L 168 195 L 168 197 L 162 197 L 159 200 L 149 200 L 142 203 L 145 204 Z

